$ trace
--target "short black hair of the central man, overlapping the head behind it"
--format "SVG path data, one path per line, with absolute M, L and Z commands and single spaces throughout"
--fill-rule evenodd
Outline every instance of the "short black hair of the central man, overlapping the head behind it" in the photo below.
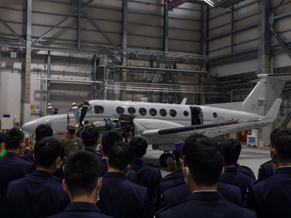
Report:
M 134 160 L 134 150 L 127 142 L 117 142 L 109 151 L 108 164 L 114 169 L 124 170 Z

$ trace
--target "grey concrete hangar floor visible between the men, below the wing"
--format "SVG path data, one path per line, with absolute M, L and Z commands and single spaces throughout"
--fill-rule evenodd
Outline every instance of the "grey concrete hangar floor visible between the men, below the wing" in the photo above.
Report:
M 162 176 L 164 177 L 172 172 L 167 172 L 167 167 L 162 167 L 159 164 L 159 157 L 162 153 L 163 151 L 153 150 L 152 146 L 149 145 L 143 160 L 145 163 L 150 163 L 158 167 L 161 170 Z M 238 159 L 239 165 L 251 168 L 256 178 L 258 178 L 258 170 L 260 165 L 269 160 L 271 160 L 270 148 L 247 147 L 246 144 L 242 143 L 242 151 Z

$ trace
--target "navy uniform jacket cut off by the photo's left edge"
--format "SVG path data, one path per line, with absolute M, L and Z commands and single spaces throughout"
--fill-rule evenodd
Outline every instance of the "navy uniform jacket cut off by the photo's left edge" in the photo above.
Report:
M 36 170 L 36 164 L 20 157 L 18 153 L 10 151 L 0 158 L 0 206 L 3 206 L 8 184 L 17 178 L 31 174 L 34 170 Z

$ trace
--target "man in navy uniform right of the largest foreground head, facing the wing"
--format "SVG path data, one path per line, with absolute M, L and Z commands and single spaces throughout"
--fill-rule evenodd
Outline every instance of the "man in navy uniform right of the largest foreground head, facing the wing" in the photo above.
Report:
M 241 144 L 235 139 L 226 139 L 219 144 L 224 154 L 224 173 L 219 178 L 219 181 L 230 183 L 239 187 L 242 191 L 242 196 L 246 195 L 246 188 L 249 183 L 255 179 L 247 173 L 242 172 L 241 169 L 235 167 L 242 150 Z

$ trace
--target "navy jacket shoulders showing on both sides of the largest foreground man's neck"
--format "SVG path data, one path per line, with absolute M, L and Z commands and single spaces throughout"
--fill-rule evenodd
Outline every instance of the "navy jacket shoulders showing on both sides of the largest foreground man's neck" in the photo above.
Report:
M 242 192 L 239 187 L 228 183 L 218 182 L 217 191 L 223 196 L 224 199 L 233 203 L 243 204 Z M 186 201 L 189 194 L 190 191 L 185 182 L 174 185 L 162 192 L 161 208 L 174 203 Z

